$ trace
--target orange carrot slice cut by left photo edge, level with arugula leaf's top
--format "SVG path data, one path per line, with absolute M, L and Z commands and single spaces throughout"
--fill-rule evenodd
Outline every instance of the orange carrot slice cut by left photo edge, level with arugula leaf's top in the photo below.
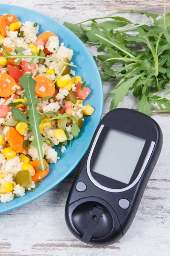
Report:
M 0 74 L 0 97 L 8 97 L 15 93 L 16 88 L 12 87 L 16 84 L 15 80 L 8 74 Z

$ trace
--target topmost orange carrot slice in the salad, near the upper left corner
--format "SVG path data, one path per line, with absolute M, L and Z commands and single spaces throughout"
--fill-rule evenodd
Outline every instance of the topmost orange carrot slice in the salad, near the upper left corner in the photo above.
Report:
M 11 23 L 18 22 L 18 18 L 15 15 L 6 14 L 0 17 L 0 34 L 7 36 L 6 31 Z

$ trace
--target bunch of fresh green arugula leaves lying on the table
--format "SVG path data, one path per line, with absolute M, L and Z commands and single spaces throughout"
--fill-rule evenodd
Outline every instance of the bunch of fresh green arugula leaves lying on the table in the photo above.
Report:
M 118 12 L 138 12 L 153 19 L 153 25 L 147 23 L 134 24 L 124 17 L 114 16 Z M 170 100 L 167 96 L 156 95 L 165 87 L 170 87 L 170 13 L 166 14 L 164 0 L 164 16 L 158 19 L 158 14 L 149 14 L 136 10 L 123 10 L 111 13 L 102 18 L 93 18 L 77 24 L 64 23 L 83 43 L 95 44 L 98 52 L 94 57 L 101 69 L 102 81 L 120 78 L 118 84 L 110 91 L 106 99 L 113 96 L 110 110 L 122 102 L 129 90 L 139 98 L 137 108 L 142 113 L 152 115 L 153 104 L 161 111 L 164 107 L 170 111 Z M 97 23 L 98 20 L 105 20 Z M 89 22 L 91 22 L 89 24 Z M 116 30 L 131 24 L 131 27 Z M 129 35 L 131 29 L 137 30 L 137 35 Z M 121 63 L 121 67 L 117 64 Z M 106 100 L 105 99 L 105 100 Z M 152 104 L 153 103 L 153 104 Z M 166 111 L 167 112 L 167 111 Z

